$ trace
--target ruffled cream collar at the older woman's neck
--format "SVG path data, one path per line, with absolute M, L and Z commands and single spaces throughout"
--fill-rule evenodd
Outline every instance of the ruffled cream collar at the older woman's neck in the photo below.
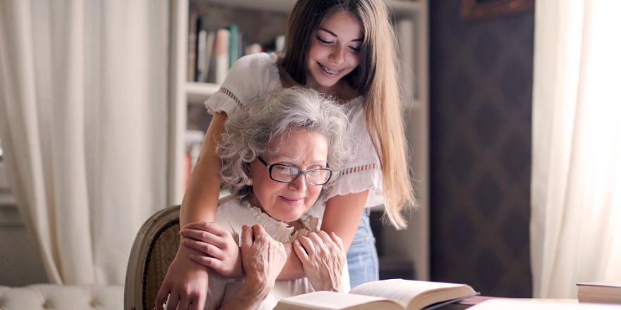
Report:
M 303 228 L 296 229 L 288 223 L 272 218 L 258 206 L 250 204 L 250 202 L 242 202 L 241 206 L 255 216 L 265 231 L 278 242 L 291 242 L 301 236 L 306 236 L 308 233 L 316 231 L 319 225 L 319 218 L 304 214 L 299 219 Z

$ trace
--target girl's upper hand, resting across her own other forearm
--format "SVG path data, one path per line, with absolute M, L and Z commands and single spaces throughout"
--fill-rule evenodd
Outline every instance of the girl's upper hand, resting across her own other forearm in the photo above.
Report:
M 183 237 L 181 242 L 184 247 L 201 253 L 189 255 L 195 263 L 210 267 L 227 278 L 239 278 L 243 275 L 237 242 L 229 231 L 222 229 L 217 223 L 190 223 L 179 233 Z

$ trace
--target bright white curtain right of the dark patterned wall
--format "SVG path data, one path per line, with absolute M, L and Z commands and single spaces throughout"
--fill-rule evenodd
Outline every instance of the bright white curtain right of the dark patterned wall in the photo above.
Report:
M 621 281 L 621 1 L 536 1 L 535 297 Z

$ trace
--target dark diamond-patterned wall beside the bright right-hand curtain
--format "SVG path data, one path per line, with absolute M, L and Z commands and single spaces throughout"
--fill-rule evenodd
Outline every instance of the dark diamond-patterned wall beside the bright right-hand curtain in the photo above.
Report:
M 430 2 L 431 276 L 531 296 L 534 13 L 465 22 Z

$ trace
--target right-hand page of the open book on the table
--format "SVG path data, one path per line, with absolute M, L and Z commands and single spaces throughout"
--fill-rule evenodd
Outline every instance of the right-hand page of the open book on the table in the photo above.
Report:
M 351 293 L 393 299 L 406 308 L 411 299 L 428 292 L 436 292 L 463 284 L 390 279 L 363 283 L 351 289 Z

